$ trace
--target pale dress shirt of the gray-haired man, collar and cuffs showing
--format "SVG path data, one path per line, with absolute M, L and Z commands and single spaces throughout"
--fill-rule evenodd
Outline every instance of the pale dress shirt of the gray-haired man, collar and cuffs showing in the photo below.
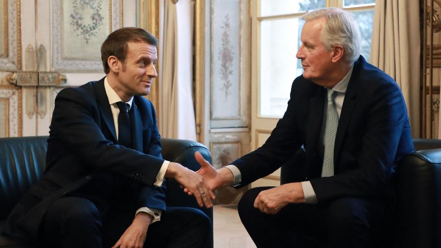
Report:
M 335 108 L 337 110 L 337 115 L 340 118 L 340 113 L 342 113 L 342 107 L 343 107 L 343 101 L 344 101 L 344 95 L 346 94 L 346 89 L 347 89 L 347 85 L 349 83 L 349 79 L 351 78 L 352 75 L 352 70 L 354 69 L 354 66 L 351 67 L 351 69 L 349 70 L 349 72 L 347 72 L 347 74 L 343 77 L 343 79 L 336 84 L 334 87 L 332 87 L 332 89 L 334 91 L 336 91 L 337 96 L 334 99 L 334 104 L 335 104 Z M 326 95 L 325 95 L 326 98 Z M 324 106 L 327 105 L 327 99 L 324 101 L 325 104 Z M 324 116 L 323 116 L 323 120 L 326 119 L 326 111 L 324 111 Z M 320 131 L 320 137 L 321 140 L 323 141 L 323 146 L 324 146 L 324 127 L 322 125 L 321 131 Z M 227 165 L 225 166 L 225 168 L 228 168 L 234 175 L 234 181 L 233 181 L 233 186 L 240 184 L 240 182 L 242 181 L 242 176 L 241 176 L 241 172 L 239 171 L 239 169 L 235 166 L 235 165 Z M 303 187 L 303 195 L 305 196 L 305 203 L 317 203 L 317 196 L 316 196 L 316 192 L 314 191 L 314 188 L 311 185 L 310 181 L 303 181 L 301 182 L 302 187 Z

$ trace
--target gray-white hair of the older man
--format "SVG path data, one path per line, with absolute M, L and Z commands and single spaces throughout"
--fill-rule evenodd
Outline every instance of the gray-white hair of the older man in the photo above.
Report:
M 360 56 L 360 31 L 352 13 L 340 8 L 321 8 L 302 16 L 307 21 L 325 17 L 326 24 L 321 31 L 321 42 L 327 50 L 341 45 L 344 58 L 355 62 Z

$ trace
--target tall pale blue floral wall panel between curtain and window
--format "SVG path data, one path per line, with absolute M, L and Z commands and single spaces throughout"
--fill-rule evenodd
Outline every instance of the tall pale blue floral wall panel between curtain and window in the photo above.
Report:
M 244 5 L 242 0 L 211 0 L 211 127 L 248 123 L 249 53 L 244 50 L 249 49 L 249 37 Z

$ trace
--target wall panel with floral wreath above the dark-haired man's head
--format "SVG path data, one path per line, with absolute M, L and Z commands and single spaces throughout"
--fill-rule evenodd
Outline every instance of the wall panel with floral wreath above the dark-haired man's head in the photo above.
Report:
M 99 48 L 123 26 L 122 0 L 52 0 L 52 67 L 63 72 L 102 72 Z

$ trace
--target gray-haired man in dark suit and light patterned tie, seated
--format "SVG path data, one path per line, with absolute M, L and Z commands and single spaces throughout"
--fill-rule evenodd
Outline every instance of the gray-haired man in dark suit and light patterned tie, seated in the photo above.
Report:
M 396 82 L 360 55 L 358 25 L 339 8 L 303 17 L 288 108 L 265 144 L 215 170 L 196 158 L 212 190 L 264 177 L 286 164 L 298 181 L 245 193 L 239 215 L 258 248 L 378 247 L 392 212 L 392 176 L 412 152 L 406 104 Z M 306 204 L 305 204 L 306 203 Z

